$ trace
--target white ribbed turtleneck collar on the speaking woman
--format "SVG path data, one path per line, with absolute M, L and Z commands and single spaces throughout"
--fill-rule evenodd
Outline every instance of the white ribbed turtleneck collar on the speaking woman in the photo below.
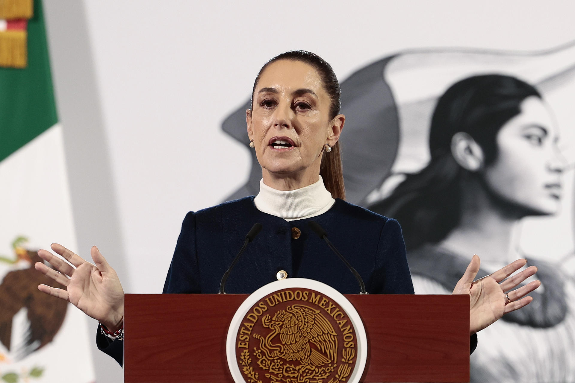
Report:
M 316 183 L 295 190 L 277 190 L 264 184 L 262 179 L 254 203 L 259 211 L 290 221 L 324 214 L 335 199 L 320 176 Z

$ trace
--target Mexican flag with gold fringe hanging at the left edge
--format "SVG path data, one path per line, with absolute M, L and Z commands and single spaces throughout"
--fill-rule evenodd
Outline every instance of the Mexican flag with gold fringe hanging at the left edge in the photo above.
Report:
M 45 295 L 39 248 L 76 248 L 40 0 L 0 0 L 0 383 L 93 382 L 85 315 Z

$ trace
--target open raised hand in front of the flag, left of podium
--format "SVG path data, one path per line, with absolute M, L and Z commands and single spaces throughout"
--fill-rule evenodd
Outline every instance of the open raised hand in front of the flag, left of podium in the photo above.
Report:
M 118 330 L 124 323 L 124 289 L 118 274 L 100 254 L 98 247 L 92 246 L 90 250 L 95 265 L 62 245 L 52 243 L 51 247 L 74 267 L 47 250 L 39 250 L 40 258 L 48 261 L 55 269 L 42 262 L 36 262 L 34 265 L 36 270 L 64 285 L 66 290 L 47 285 L 39 285 L 38 289 L 70 301 L 87 315 L 104 324 L 108 330 Z

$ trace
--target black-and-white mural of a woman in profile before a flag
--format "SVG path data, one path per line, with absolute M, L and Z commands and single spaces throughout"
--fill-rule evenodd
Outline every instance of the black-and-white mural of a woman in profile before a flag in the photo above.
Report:
M 347 200 L 401 223 L 416 293 L 450 293 L 473 254 L 481 275 L 538 266 L 534 301 L 481 331 L 471 382 L 574 382 L 575 42 L 398 52 L 341 85 Z M 248 106 L 223 123 L 246 146 Z M 228 199 L 258 193 L 250 153 Z

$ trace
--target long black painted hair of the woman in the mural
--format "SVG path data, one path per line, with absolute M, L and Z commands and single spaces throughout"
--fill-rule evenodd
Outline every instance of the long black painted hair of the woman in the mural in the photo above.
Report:
M 431 119 L 430 163 L 407 175 L 389 198 L 370 207 L 401 223 L 408 250 L 442 241 L 459 224 L 459 180 L 467 171 L 451 154 L 453 135 L 469 134 L 481 146 L 485 165 L 493 163 L 497 133 L 520 113 L 521 103 L 529 96 L 541 97 L 522 80 L 481 75 L 455 83 L 439 98 Z

